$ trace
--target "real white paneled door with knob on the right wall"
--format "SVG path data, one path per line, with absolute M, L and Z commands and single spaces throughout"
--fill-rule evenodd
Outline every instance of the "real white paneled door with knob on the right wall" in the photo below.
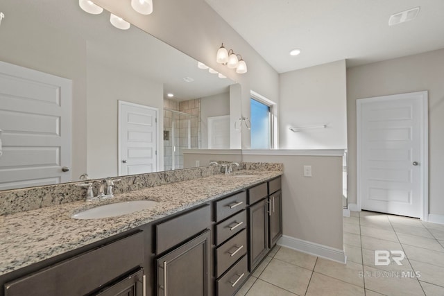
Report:
M 361 209 L 427 218 L 427 92 L 357 100 Z

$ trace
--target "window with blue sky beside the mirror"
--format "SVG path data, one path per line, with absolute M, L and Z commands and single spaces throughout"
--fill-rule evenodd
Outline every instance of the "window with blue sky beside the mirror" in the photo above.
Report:
M 271 107 L 250 98 L 251 149 L 271 148 Z

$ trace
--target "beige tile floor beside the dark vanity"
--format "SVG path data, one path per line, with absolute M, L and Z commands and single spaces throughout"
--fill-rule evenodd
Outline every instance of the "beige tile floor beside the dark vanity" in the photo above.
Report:
M 444 225 L 361 211 L 343 229 L 347 264 L 276 246 L 237 296 L 444 296 Z M 405 259 L 376 266 L 374 250 L 402 250 Z

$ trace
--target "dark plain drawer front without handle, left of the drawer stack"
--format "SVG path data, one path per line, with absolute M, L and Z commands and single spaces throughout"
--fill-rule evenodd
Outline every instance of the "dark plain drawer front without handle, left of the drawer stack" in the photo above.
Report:
M 155 225 L 155 253 L 182 243 L 211 225 L 210 204 Z

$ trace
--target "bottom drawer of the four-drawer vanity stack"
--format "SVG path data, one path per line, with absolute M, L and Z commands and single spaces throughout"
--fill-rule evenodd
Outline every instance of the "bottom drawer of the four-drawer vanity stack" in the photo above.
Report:
M 228 272 L 217 280 L 217 295 L 231 296 L 239 289 L 248 277 L 248 260 L 244 256 L 238 263 L 236 263 Z

